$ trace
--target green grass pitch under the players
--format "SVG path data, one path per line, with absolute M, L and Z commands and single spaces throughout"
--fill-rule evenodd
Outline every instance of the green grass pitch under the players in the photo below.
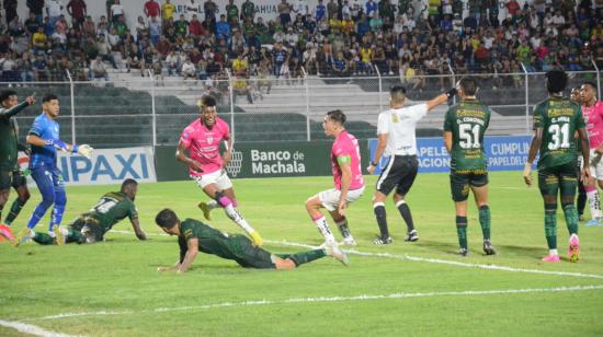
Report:
M 445 174 L 419 175 L 408 196 L 419 242 L 403 242 L 406 226 L 388 200 L 394 244 L 373 245 L 375 177 L 367 179 L 365 195 L 349 208 L 360 243 L 353 249 L 363 253 L 351 254 L 349 267 L 327 257 L 293 271 L 251 270 L 200 254 L 185 275 L 156 271 L 173 264 L 179 251 L 175 237 L 160 235 L 153 218 L 170 207 L 182 218 L 202 219 L 196 204 L 207 198 L 193 182 L 143 184 L 136 205 L 150 234 L 147 242 L 124 233 L 132 232 L 125 220 L 106 242 L 94 245 L 0 244 L 0 323 L 88 336 L 603 335 L 603 228 L 580 225 L 580 262 L 570 264 L 559 209 L 564 260 L 541 263 L 547 253 L 542 199 L 537 188 L 523 185 L 521 173 L 490 174 L 497 256 L 481 253 L 475 205 L 469 256 L 454 254 L 454 206 Z M 304 202 L 330 188 L 330 177 L 234 184 L 239 210 L 269 241 L 265 248 L 306 249 L 284 245 L 284 240 L 321 243 Z M 69 187 L 64 224 L 116 188 Z M 39 201 L 37 190 L 32 194 L 13 225 L 15 232 Z M 213 217 L 214 226 L 240 231 L 221 210 L 214 210 Z M 46 230 L 47 223 L 48 214 L 37 229 Z M 332 221 L 331 226 L 334 230 Z M 0 324 L 0 336 L 21 333 Z

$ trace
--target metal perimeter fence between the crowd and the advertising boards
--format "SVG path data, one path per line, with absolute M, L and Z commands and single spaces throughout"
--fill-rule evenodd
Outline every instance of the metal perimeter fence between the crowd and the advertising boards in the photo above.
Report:
M 596 66 L 595 66 L 596 67 Z M 304 69 L 297 78 L 237 78 L 230 72 L 218 80 L 182 80 L 157 75 L 110 74 L 110 81 L 11 82 L 20 98 L 36 92 L 59 96 L 58 117 L 64 139 L 95 147 L 174 146 L 182 130 L 198 117 L 197 101 L 204 94 L 216 97 L 218 114 L 230 125 L 237 142 L 299 141 L 326 139 L 321 128 L 325 114 L 340 108 L 348 115 L 348 129 L 357 138 L 374 138 L 377 115 L 387 108 L 388 90 L 402 84 L 409 105 L 433 98 L 462 77 L 477 80 L 478 97 L 493 111 L 490 135 L 531 132 L 533 106 L 546 98 L 544 73 L 454 73 L 434 75 L 387 75 L 375 67 L 372 77 L 332 78 L 309 75 Z M 571 86 L 584 81 L 598 83 L 601 73 L 569 72 Z M 600 96 L 599 96 L 600 97 Z M 39 104 L 39 103 L 38 103 Z M 440 136 L 447 106 L 443 105 L 418 125 L 418 135 Z M 70 114 L 65 114 L 69 111 Z M 22 137 L 39 105 L 18 116 Z

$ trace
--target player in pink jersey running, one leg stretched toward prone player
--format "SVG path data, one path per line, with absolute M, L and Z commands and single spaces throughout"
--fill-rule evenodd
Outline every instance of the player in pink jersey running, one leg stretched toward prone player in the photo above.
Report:
M 201 98 L 201 117 L 182 132 L 175 158 L 189 165 L 191 178 L 209 198 L 214 199 L 212 202 L 200 202 L 198 205 L 205 219 L 209 220 L 212 209 L 221 207 L 228 218 L 243 229 L 255 245 L 261 246 L 263 241 L 260 234 L 235 208 L 237 198 L 232 183 L 225 170 L 232 154 L 230 128 L 216 114 L 216 100 L 212 96 L 203 96 Z M 224 156 L 219 153 L 219 144 L 223 140 L 227 143 Z

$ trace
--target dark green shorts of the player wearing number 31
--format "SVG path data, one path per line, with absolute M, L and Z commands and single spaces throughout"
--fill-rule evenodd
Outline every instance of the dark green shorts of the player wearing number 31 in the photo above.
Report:
M 578 172 L 576 163 L 570 162 L 558 166 L 538 170 L 538 188 L 543 196 L 574 197 L 578 187 Z

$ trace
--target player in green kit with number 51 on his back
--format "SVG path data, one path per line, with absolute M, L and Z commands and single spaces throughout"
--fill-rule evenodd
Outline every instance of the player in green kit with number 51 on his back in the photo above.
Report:
M 456 84 L 460 102 L 452 106 L 444 119 L 444 143 L 451 154 L 451 190 L 456 208 L 456 233 L 466 256 L 467 198 L 474 193 L 479 209 L 479 224 L 483 234 L 483 252 L 497 254 L 490 243 L 490 207 L 488 206 L 488 160 L 483 151 L 483 133 L 490 124 L 491 112 L 476 98 L 477 84 L 464 78 Z

